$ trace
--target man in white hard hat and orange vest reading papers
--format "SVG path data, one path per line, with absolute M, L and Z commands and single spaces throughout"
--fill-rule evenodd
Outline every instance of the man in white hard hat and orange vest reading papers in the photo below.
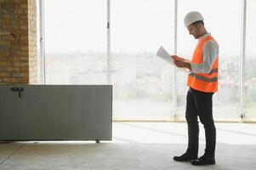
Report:
M 173 55 L 174 64 L 189 69 L 185 118 L 188 125 L 188 147 L 175 161 L 191 161 L 192 165 L 215 164 L 216 129 L 213 122 L 213 94 L 218 91 L 219 46 L 204 27 L 202 14 L 192 11 L 184 23 L 190 35 L 198 39 L 192 61 Z M 199 127 L 197 116 L 205 129 L 206 149 L 197 158 Z

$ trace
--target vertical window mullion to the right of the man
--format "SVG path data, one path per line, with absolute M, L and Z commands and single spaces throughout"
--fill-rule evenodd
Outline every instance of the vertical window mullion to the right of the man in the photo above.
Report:
M 247 21 L 247 0 L 242 0 L 242 39 L 240 54 L 240 116 L 244 122 L 245 103 L 244 103 L 244 81 L 245 81 L 245 53 L 246 53 L 246 21 Z

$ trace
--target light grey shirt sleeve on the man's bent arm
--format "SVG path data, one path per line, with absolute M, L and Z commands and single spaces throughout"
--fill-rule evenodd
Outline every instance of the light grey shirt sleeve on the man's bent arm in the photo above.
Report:
M 213 40 L 204 44 L 202 49 L 202 63 L 191 63 L 191 70 L 195 73 L 209 73 L 213 68 L 213 63 L 219 55 L 219 46 Z

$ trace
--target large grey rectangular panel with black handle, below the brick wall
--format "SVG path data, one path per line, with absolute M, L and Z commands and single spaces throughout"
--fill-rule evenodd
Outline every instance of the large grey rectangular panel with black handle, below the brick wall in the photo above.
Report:
M 1 85 L 0 140 L 111 140 L 111 85 Z

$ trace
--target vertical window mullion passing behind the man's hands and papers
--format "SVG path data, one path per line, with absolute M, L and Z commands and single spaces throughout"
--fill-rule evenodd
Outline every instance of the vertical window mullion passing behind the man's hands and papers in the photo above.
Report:
M 177 21 L 178 21 L 178 0 L 174 1 L 174 54 L 177 54 Z M 173 115 L 174 122 L 177 116 L 177 69 L 173 68 Z

